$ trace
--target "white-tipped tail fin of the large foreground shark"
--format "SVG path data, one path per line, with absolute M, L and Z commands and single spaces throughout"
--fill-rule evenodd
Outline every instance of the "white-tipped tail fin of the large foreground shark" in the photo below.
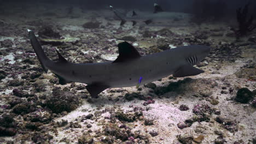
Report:
M 30 43 L 34 49 L 34 52 L 36 52 L 36 55 L 39 59 L 40 64 L 42 65 L 45 73 L 47 73 L 48 69 L 45 67 L 45 62 L 49 61 L 49 58 L 45 55 L 42 46 L 39 44 L 36 35 L 34 35 L 34 32 L 30 29 L 27 29 L 28 31 L 28 37 L 30 39 Z

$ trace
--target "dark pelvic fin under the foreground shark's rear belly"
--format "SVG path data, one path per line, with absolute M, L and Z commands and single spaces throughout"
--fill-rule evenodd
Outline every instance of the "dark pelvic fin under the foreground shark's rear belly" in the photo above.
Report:
M 109 88 L 109 86 L 106 86 L 103 83 L 92 83 L 86 86 L 86 89 L 90 93 L 92 98 L 98 98 L 98 94 L 100 94 L 107 88 Z

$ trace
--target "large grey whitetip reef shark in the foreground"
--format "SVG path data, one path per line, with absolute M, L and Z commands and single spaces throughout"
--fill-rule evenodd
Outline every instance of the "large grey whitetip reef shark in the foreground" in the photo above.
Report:
M 54 62 L 44 53 L 34 32 L 28 30 L 31 45 L 40 64 L 59 77 L 61 84 L 67 82 L 86 83 L 92 98 L 97 98 L 104 89 L 130 87 L 149 83 L 173 75 L 174 77 L 193 76 L 203 70 L 193 67 L 210 52 L 209 46 L 190 45 L 141 56 L 126 41 L 118 44 L 119 56 L 115 61 L 102 63 L 71 63 L 56 50 L 59 60 Z

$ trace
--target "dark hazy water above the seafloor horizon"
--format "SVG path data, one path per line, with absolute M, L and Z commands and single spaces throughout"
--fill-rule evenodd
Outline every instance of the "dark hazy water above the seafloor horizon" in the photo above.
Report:
M 251 3 L 252 9 L 255 10 L 256 8 L 256 1 L 246 1 L 246 0 L 17 0 L 17 1 L 11 1 L 11 0 L 0 0 L 1 4 L 7 4 L 7 3 L 19 3 L 19 4 L 33 4 L 33 3 L 48 3 L 48 4 L 79 4 L 84 5 L 85 7 L 88 7 L 90 9 L 97 9 L 97 8 L 104 8 L 106 5 L 115 5 L 115 7 L 121 7 L 121 8 L 136 8 L 136 9 L 146 9 L 150 10 L 153 8 L 154 3 L 158 3 L 161 5 L 165 10 L 168 11 L 181 11 L 186 12 L 190 9 L 193 9 L 193 3 L 197 2 L 224 2 L 226 3 L 226 12 L 228 13 L 231 9 L 236 9 L 237 7 L 240 7 L 241 5 L 245 5 L 246 3 Z M 216 6 L 212 4 L 212 6 Z M 212 9 L 218 11 L 218 7 L 213 7 Z

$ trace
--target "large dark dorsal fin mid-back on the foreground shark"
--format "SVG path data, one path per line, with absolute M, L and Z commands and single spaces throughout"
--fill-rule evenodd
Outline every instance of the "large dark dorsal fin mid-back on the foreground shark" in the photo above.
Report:
M 139 58 L 138 51 L 131 44 L 124 41 L 123 43 L 118 44 L 119 56 L 113 63 L 124 62 L 129 59 Z

